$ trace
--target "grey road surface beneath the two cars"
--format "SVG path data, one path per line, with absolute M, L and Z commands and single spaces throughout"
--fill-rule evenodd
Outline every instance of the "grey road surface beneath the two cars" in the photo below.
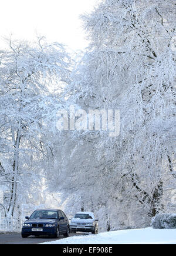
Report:
M 89 233 L 88 233 L 89 234 Z M 83 235 L 83 233 L 70 234 L 73 235 Z M 64 239 L 63 235 L 60 235 L 59 239 Z M 18 234 L 0 234 L 0 244 L 40 244 L 40 242 L 54 241 L 56 238 L 49 237 L 34 237 L 30 236 L 28 238 L 22 238 L 21 233 Z

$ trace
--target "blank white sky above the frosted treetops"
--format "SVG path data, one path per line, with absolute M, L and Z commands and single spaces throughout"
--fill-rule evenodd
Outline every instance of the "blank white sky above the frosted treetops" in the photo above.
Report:
M 90 12 L 96 0 L 1 0 L 0 36 L 32 40 L 36 32 L 70 49 L 87 46 L 79 15 Z M 0 38 L 0 39 L 1 39 Z M 0 47 L 4 42 L 0 40 Z

